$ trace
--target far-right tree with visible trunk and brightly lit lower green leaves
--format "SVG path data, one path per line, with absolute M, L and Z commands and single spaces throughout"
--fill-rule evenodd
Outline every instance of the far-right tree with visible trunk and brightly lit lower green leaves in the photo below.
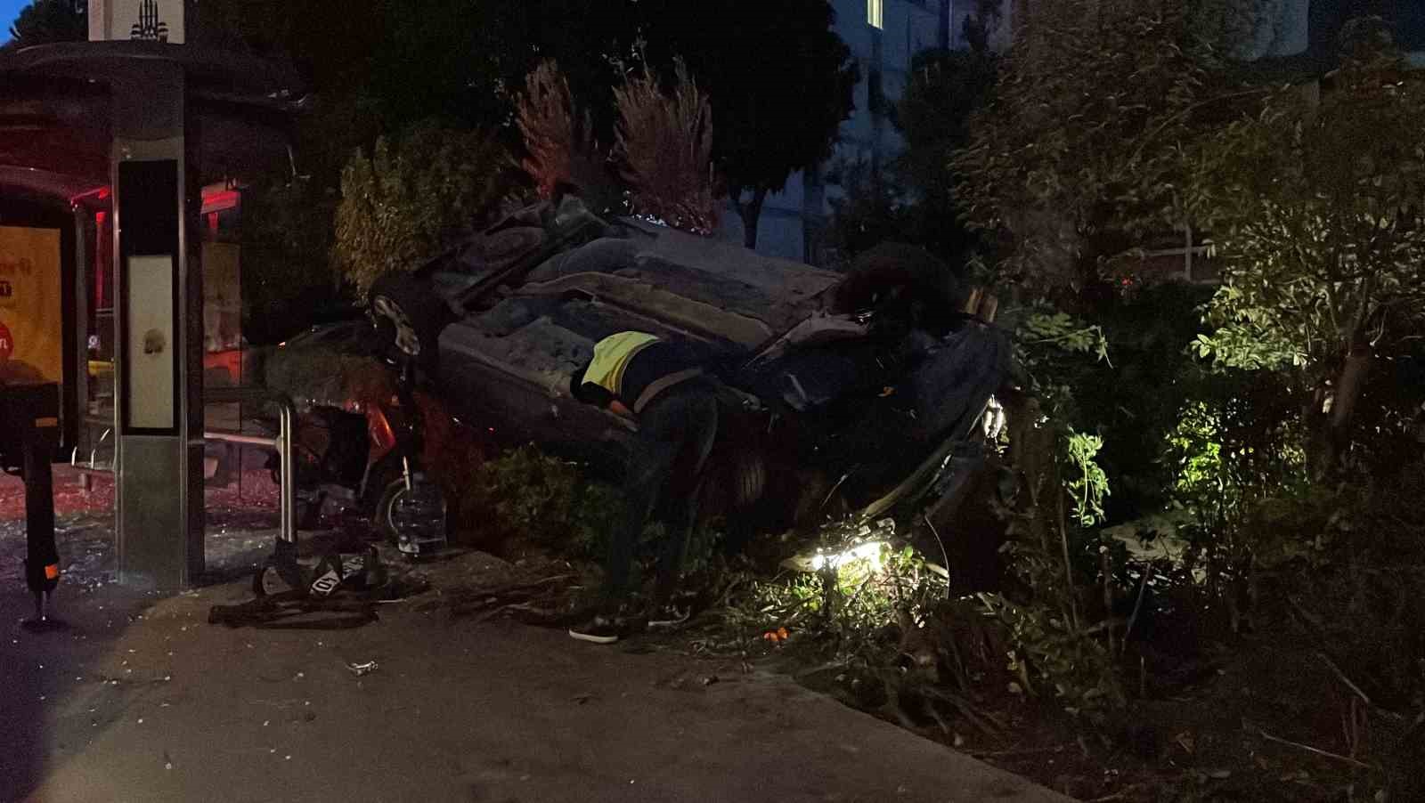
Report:
M 1300 373 L 1317 474 L 1338 468 L 1372 366 L 1425 330 L 1422 120 L 1425 84 L 1367 36 L 1320 104 L 1288 87 L 1223 131 L 1194 184 L 1224 259 L 1198 352 Z

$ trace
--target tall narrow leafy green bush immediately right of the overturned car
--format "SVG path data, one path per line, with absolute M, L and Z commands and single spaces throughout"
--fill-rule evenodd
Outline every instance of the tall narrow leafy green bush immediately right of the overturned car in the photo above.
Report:
M 1052 306 L 1017 313 L 1015 350 L 1032 397 L 1009 397 L 1010 453 L 1022 488 L 1000 513 L 1006 520 L 1006 570 L 1013 582 L 982 599 L 1015 648 L 1007 669 L 1026 693 L 1057 699 L 1067 710 L 1097 716 L 1121 706 L 1112 611 L 1090 601 L 1123 575 L 1121 551 L 1107 547 L 1109 476 L 1099 464 L 1104 439 L 1100 407 L 1083 389 L 1113 369 L 1103 330 Z M 1100 619 L 1102 616 L 1102 619 Z

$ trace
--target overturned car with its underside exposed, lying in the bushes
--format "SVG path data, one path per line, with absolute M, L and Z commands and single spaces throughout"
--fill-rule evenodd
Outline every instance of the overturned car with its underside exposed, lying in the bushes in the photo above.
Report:
M 1010 359 L 966 295 L 908 246 L 835 273 L 564 196 L 382 278 L 369 313 L 457 420 L 601 471 L 636 424 L 574 400 L 571 374 L 616 332 L 688 345 L 725 413 L 705 510 L 785 528 L 956 495 Z

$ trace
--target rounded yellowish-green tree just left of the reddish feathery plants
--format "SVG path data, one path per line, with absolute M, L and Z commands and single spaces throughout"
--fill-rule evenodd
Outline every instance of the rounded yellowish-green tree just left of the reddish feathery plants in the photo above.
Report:
M 362 296 L 382 275 L 419 268 L 499 208 L 513 167 L 480 131 L 423 125 L 395 145 L 379 138 L 342 171 L 336 266 Z

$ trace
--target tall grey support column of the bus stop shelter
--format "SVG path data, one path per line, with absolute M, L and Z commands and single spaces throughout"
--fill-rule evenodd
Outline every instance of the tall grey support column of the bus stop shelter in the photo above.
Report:
M 113 84 L 118 579 L 174 591 L 204 570 L 202 280 L 182 68 Z

